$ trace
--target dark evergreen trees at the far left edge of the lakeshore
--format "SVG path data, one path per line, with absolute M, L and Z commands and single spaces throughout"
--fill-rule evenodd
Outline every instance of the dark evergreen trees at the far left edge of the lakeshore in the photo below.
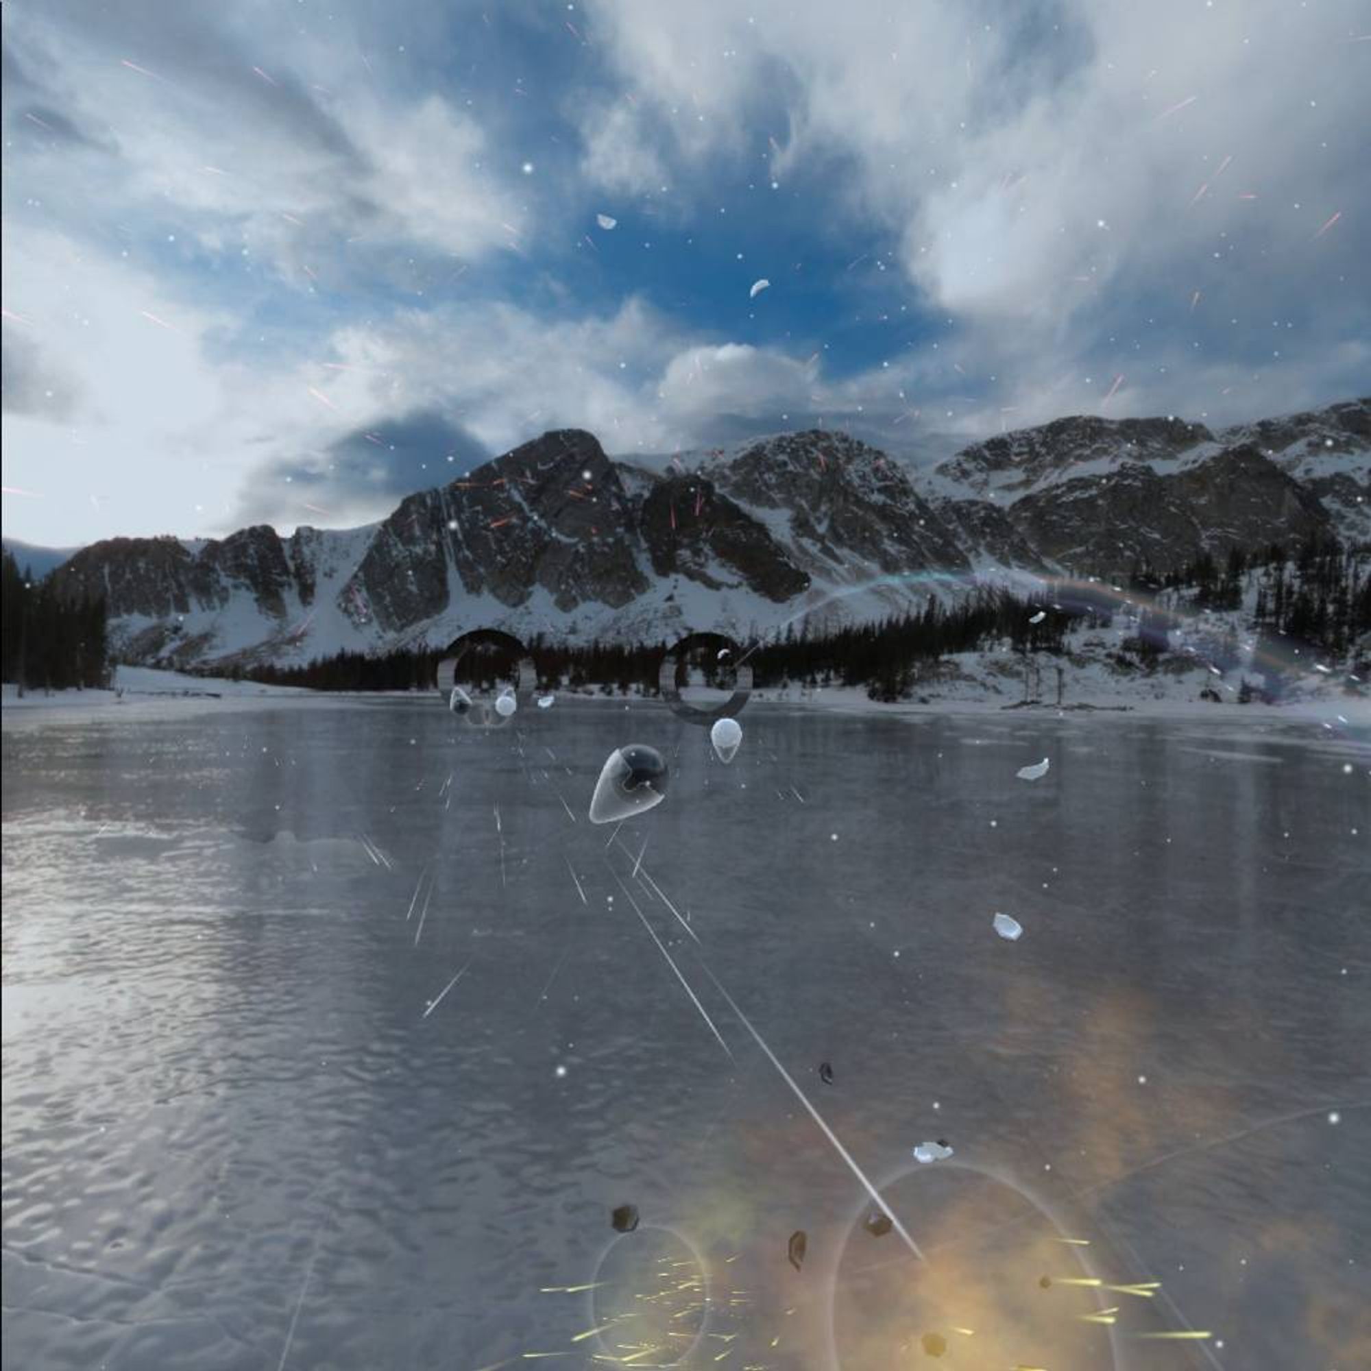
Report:
M 73 600 L 52 577 L 34 581 L 11 553 L 0 563 L 3 676 L 26 690 L 97 687 L 110 680 L 104 600 Z

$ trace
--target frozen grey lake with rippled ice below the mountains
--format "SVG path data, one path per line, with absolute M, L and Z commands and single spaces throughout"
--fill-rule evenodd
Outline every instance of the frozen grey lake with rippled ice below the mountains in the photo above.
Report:
M 5 1363 L 1371 1366 L 1366 743 L 1224 718 L 7 721 Z

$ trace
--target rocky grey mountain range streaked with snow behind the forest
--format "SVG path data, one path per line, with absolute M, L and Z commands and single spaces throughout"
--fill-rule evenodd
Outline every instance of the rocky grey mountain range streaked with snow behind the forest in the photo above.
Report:
M 651 470 L 565 429 L 365 528 L 108 539 L 53 574 L 107 596 L 122 659 L 225 666 L 443 646 L 483 627 L 742 639 L 879 618 L 987 579 L 1168 569 L 1316 532 L 1371 543 L 1371 399 L 1217 433 L 1064 418 L 921 474 L 832 432 Z

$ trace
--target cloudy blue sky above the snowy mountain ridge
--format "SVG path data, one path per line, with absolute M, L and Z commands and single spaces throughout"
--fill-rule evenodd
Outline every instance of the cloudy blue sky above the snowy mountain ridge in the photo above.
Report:
M 554 428 L 927 462 L 1371 378 L 1364 0 L 0 26 L 7 536 L 350 526 Z

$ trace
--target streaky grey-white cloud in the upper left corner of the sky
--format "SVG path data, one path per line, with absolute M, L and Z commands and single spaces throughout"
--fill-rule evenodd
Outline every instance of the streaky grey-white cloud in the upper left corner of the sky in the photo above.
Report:
M 247 245 L 302 285 L 302 262 L 341 270 L 359 239 L 474 259 L 525 232 L 514 169 L 496 174 L 478 121 L 444 95 L 362 80 L 355 55 L 354 80 L 337 47 L 295 33 L 273 73 L 251 62 L 271 47 L 266 33 L 244 51 L 241 34 L 203 18 L 134 12 L 143 27 L 132 32 L 41 11 L 7 19 L 7 45 L 33 55 L 53 101 L 115 149 L 53 158 L 29 128 L 11 155 L 47 199 L 82 204 L 88 229 L 177 221 L 203 248 Z M 130 51 L 152 56 L 130 66 Z

